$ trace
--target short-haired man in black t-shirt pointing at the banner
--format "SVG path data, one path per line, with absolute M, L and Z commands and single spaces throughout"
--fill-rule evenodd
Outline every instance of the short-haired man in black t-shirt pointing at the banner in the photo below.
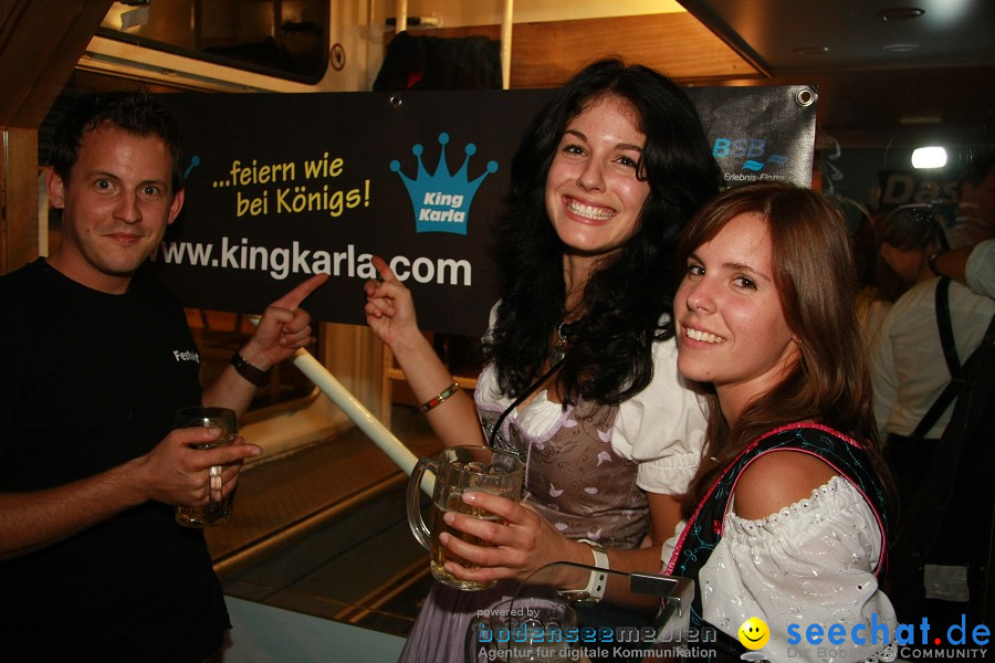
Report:
M 147 94 L 84 101 L 56 133 L 49 198 L 62 239 L 0 277 L 0 659 L 193 662 L 230 628 L 203 533 L 209 469 L 230 494 L 239 440 L 170 430 L 181 407 L 242 413 L 260 376 L 304 346 L 297 305 L 316 276 L 266 308 L 207 390 L 177 299 L 139 267 L 184 203 L 182 145 Z

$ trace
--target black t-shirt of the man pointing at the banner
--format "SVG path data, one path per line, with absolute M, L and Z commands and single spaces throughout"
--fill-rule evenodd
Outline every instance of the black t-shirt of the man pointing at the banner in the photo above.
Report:
M 140 456 L 200 403 L 197 347 L 155 281 L 107 295 L 39 259 L 0 277 L 0 492 Z M 228 628 L 203 534 L 165 504 L 0 562 L 2 661 L 198 661 Z

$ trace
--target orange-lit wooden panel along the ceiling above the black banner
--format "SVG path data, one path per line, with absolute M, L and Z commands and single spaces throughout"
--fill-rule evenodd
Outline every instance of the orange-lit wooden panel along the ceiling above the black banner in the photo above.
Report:
M 427 36 L 484 34 L 499 25 L 410 30 Z M 512 31 L 512 87 L 556 87 L 585 64 L 620 55 L 681 83 L 760 76 L 725 42 L 687 13 L 516 23 Z

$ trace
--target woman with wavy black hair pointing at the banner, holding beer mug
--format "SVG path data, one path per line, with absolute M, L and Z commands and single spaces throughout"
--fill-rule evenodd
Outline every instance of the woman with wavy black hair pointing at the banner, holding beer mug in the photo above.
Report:
M 446 389 L 453 380 L 383 261 L 384 281 L 366 284 L 367 322 L 443 443 L 491 443 L 526 462 L 522 504 L 463 497 L 506 524 L 447 515 L 450 527 L 494 546 L 443 534 L 474 567 L 446 570 L 482 582 L 522 582 L 555 561 L 656 571 L 704 434 L 701 404 L 675 367 L 672 251 L 687 219 L 719 191 L 719 168 L 679 87 L 607 60 L 568 81 L 533 120 L 511 179 L 496 229 L 502 297 L 475 403 Z M 586 594 L 580 608 L 603 597 L 631 601 L 584 569 L 544 583 Z M 437 585 L 402 659 L 461 660 L 469 619 L 514 587 L 469 593 Z M 596 621 L 610 608 L 599 609 Z

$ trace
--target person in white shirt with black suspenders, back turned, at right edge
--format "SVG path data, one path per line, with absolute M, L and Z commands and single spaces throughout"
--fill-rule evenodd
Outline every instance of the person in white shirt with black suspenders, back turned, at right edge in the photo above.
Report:
M 960 192 L 954 230 L 966 243 L 930 255 L 871 345 L 874 415 L 902 511 L 889 592 L 901 622 L 973 622 L 985 603 L 995 246 L 972 242 L 992 236 L 995 161 L 976 159 Z

